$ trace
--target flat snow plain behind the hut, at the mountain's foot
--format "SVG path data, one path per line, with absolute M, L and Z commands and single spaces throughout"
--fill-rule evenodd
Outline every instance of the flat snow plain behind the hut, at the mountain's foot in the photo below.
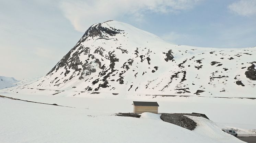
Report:
M 256 114 L 254 114 L 256 100 L 253 99 L 161 96 L 152 98 L 152 96 L 146 95 L 113 95 L 107 92 L 97 94 L 93 92 L 60 92 L 55 90 L 40 90 L 40 92 L 35 92 L 38 89 L 23 90 L 27 93 L 30 91 L 30 95 L 24 93 L 4 93 L 4 90 L 1 90 L 2 92 L 0 91 L 0 95 L 111 113 L 132 112 L 132 101 L 157 101 L 160 105 L 159 113 L 197 112 L 206 114 L 212 121 L 218 123 L 217 125 L 220 128 L 231 126 L 243 130 L 256 129 Z M 58 92 L 59 94 L 53 95 Z M 238 131 L 238 134 L 244 133 Z

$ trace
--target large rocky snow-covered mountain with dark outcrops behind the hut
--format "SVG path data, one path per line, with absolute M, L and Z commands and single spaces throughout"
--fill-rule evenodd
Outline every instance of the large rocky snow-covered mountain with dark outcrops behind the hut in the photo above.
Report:
M 255 97 L 256 47 L 167 43 L 129 24 L 92 25 L 50 72 L 29 88 L 150 95 Z

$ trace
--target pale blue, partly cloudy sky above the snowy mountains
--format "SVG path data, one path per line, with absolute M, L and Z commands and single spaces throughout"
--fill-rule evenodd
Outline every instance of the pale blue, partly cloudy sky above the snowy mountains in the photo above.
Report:
M 256 0 L 0 0 L 0 75 L 44 76 L 94 23 L 118 20 L 165 41 L 256 46 Z

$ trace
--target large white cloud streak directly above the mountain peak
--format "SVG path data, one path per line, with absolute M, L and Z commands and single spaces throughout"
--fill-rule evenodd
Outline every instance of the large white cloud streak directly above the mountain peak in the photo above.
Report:
M 92 24 L 122 16 L 143 21 L 147 13 L 177 13 L 193 8 L 202 0 L 66 0 L 60 9 L 75 30 L 84 32 Z

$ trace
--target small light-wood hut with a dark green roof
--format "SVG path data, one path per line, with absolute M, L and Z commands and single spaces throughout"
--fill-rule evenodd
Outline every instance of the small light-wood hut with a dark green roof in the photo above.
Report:
M 157 102 L 141 102 L 133 101 L 133 113 L 141 114 L 143 112 L 151 112 L 158 114 L 158 103 Z

